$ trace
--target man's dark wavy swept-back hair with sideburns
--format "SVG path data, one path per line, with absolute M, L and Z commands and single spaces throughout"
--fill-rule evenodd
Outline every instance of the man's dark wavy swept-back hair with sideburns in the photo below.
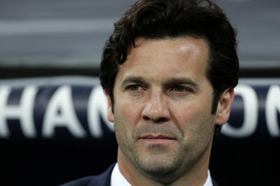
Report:
M 100 67 L 100 81 L 108 88 L 114 104 L 113 88 L 119 65 L 127 58 L 127 48 L 135 39 L 165 40 L 179 37 L 203 38 L 209 45 L 205 75 L 213 87 L 211 114 L 215 114 L 221 94 L 238 83 L 239 62 L 234 28 L 225 12 L 209 0 L 142 0 L 131 6 L 115 22 L 107 40 Z M 220 131 L 216 127 L 216 132 Z

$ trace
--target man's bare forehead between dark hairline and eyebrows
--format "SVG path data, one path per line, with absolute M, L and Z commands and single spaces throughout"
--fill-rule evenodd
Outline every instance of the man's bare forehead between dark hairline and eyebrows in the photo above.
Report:
M 208 48 L 204 39 L 193 37 L 172 40 L 138 38 L 135 48 L 129 47 L 127 60 L 120 65 L 117 78 L 131 75 L 158 79 L 176 76 L 193 80 L 205 78 Z

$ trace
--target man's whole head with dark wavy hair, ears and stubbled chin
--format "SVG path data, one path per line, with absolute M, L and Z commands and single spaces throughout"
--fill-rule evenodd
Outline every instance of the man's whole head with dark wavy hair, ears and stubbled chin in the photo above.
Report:
M 118 156 L 164 183 L 207 167 L 238 81 L 235 35 L 209 1 L 144 0 L 127 10 L 106 42 L 100 76 Z

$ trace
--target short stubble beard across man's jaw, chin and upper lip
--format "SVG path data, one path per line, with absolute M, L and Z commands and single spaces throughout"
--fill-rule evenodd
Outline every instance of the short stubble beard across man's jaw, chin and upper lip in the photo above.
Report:
M 209 124 L 210 118 L 205 119 L 200 126 L 205 127 Z M 115 123 L 124 122 L 115 117 Z M 122 123 L 122 127 L 116 125 L 115 132 L 120 150 L 125 157 L 138 169 L 143 175 L 157 180 L 163 184 L 170 184 L 176 179 L 181 177 L 199 162 L 202 155 L 205 153 L 209 143 L 206 144 L 203 137 L 189 138 L 190 142 L 187 145 L 184 143 L 184 135 L 181 131 L 169 124 L 152 124 L 147 122 L 142 126 L 134 128 L 132 138 L 127 136 L 126 124 Z M 204 129 L 205 130 L 205 129 Z M 166 145 L 150 145 L 146 148 L 147 153 L 143 153 L 145 147 L 140 146 L 138 138 L 140 134 L 145 133 L 163 133 L 176 137 L 176 146 L 172 147 Z M 192 130 L 191 135 L 204 135 L 205 131 L 201 134 L 201 130 Z M 204 136 L 205 137 L 205 136 Z M 142 151 L 141 151 L 142 149 Z M 166 153 L 166 151 L 169 151 Z

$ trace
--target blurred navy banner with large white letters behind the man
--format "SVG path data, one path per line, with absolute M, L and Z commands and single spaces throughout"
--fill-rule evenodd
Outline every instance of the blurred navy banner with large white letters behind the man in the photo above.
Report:
M 242 78 L 234 92 L 222 136 L 280 137 L 280 78 Z M 0 139 L 98 139 L 114 137 L 113 132 L 113 123 L 107 119 L 107 99 L 97 77 L 0 81 Z

